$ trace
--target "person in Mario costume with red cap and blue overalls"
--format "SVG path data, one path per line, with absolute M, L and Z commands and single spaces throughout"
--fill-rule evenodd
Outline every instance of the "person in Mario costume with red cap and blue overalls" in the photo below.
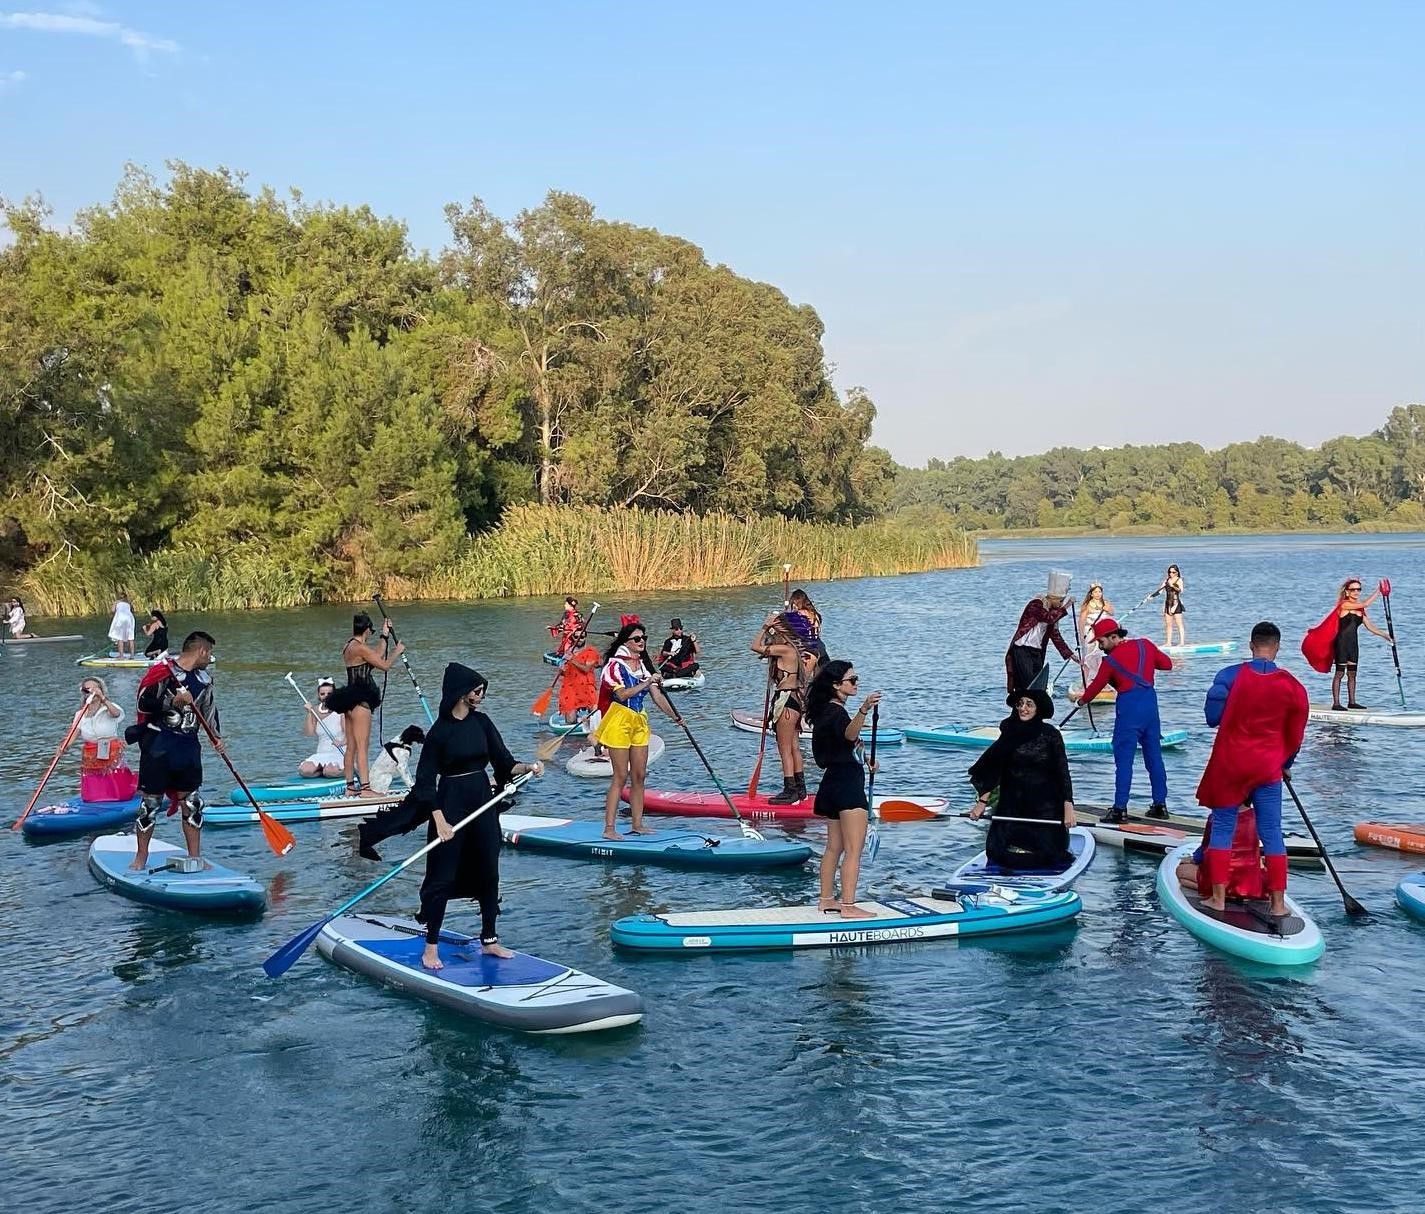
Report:
M 1167 816 L 1167 768 L 1163 765 L 1163 722 L 1159 718 L 1157 688 L 1153 675 L 1171 670 L 1173 658 L 1147 637 L 1127 640 L 1127 630 L 1112 616 L 1102 616 L 1093 626 L 1093 638 L 1103 651 L 1103 663 L 1093 681 L 1084 688 L 1082 704 L 1093 698 L 1110 683 L 1119 692 L 1113 714 L 1113 806 L 1100 818 L 1106 826 L 1129 819 L 1129 795 L 1133 792 L 1133 759 L 1143 749 L 1143 765 L 1149 769 L 1153 804 L 1150 818 Z

